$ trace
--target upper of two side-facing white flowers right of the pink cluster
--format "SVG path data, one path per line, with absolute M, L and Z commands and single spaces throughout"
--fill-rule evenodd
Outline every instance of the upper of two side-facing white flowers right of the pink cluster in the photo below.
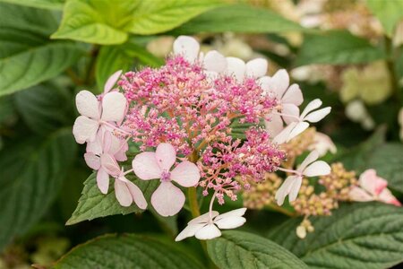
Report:
M 309 127 L 309 123 L 315 123 L 320 121 L 323 117 L 326 117 L 331 108 L 321 108 L 319 110 L 313 111 L 322 106 L 322 100 L 315 99 L 311 101 L 304 111 L 299 115 L 299 111 L 296 111 L 296 114 L 290 114 L 290 120 L 292 121 L 284 130 L 282 130 L 279 134 L 274 137 L 274 143 L 287 143 L 296 135 L 301 134 Z

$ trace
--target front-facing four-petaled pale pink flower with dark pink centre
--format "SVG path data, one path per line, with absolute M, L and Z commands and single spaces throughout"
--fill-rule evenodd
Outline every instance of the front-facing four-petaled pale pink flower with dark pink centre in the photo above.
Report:
M 141 152 L 133 159 L 133 171 L 142 180 L 160 179 L 161 184 L 151 196 L 151 204 L 161 216 L 173 216 L 184 206 L 184 193 L 171 181 L 183 187 L 193 187 L 200 179 L 198 167 L 182 161 L 170 171 L 176 161 L 175 148 L 160 143 L 156 152 Z

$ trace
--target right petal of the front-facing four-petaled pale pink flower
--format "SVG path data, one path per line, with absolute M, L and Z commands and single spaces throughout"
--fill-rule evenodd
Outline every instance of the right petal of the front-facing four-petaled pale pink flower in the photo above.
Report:
M 193 162 L 183 161 L 172 170 L 171 179 L 183 187 L 193 187 L 199 182 L 200 170 Z

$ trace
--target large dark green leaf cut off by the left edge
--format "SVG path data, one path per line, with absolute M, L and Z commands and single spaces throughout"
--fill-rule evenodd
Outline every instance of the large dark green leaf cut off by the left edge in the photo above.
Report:
M 76 155 L 70 128 L 0 152 L 0 248 L 47 212 Z

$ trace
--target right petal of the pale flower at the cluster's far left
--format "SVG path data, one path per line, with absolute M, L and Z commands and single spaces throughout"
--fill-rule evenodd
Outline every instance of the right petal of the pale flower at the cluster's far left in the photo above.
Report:
M 105 121 L 121 121 L 124 118 L 127 100 L 117 91 L 108 92 L 102 99 L 102 116 Z

